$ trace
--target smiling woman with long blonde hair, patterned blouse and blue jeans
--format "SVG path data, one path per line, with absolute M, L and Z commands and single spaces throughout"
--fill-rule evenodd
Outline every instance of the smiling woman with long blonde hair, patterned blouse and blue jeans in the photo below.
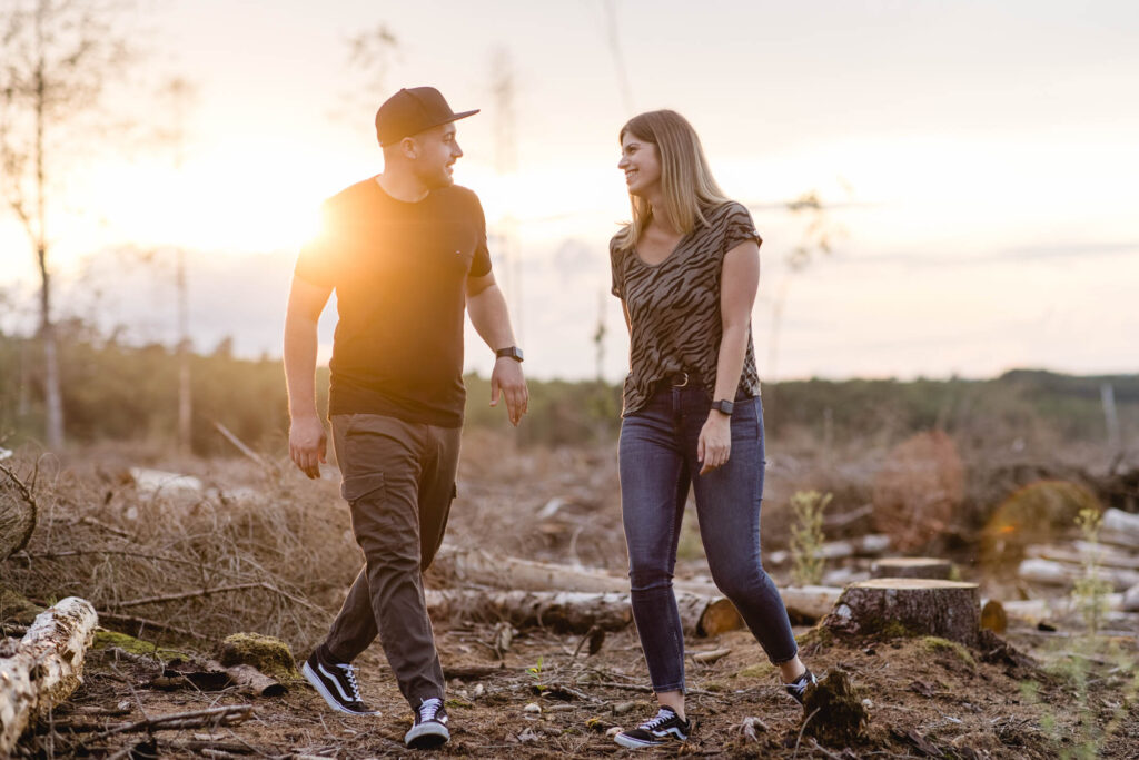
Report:
M 613 294 L 630 334 L 621 512 L 633 619 L 659 711 L 616 741 L 642 747 L 690 732 L 672 591 L 689 484 L 712 579 L 793 697 L 802 702 L 814 677 L 760 563 L 763 416 L 751 328 L 760 236 L 747 210 L 720 190 L 680 114 L 654 111 L 625 124 L 617 167 L 632 203 L 632 222 L 609 244 Z

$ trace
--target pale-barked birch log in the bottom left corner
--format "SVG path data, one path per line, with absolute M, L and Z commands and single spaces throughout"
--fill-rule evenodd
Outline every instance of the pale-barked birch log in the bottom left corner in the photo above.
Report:
M 0 659 L 0 754 L 83 681 L 83 654 L 98 622 L 90 602 L 69 596 L 36 615 L 15 652 Z

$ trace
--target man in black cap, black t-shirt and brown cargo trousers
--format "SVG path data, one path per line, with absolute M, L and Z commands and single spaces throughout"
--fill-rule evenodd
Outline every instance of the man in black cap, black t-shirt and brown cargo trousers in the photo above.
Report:
M 325 641 L 302 668 L 330 706 L 378 714 L 360 697 L 352 661 L 379 636 L 415 720 L 404 742 L 450 739 L 443 671 L 423 571 L 443 541 L 454 498 L 464 310 L 497 353 L 491 406 L 515 425 L 528 394 L 506 300 L 494 284 L 478 198 L 451 179 L 462 156 L 454 113 L 434 88 L 396 92 L 376 113 L 384 171 L 325 202 L 323 229 L 297 260 L 285 320 L 289 456 L 320 476 L 317 320 L 333 289 L 329 418 L 352 530 L 364 567 Z

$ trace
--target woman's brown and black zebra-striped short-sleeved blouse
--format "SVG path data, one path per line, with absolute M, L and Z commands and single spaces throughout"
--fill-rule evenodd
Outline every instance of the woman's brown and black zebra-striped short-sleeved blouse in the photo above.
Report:
M 745 240 L 763 240 L 747 209 L 735 201 L 704 215 L 707 224 L 697 222 L 659 264 L 645 263 L 636 251 L 618 252 L 616 238 L 609 242 L 613 295 L 625 302 L 632 324 L 623 417 L 645 408 L 657 382 L 680 371 L 695 370 L 708 400 L 715 392 L 723 258 Z M 760 394 L 751 324 L 738 393 Z

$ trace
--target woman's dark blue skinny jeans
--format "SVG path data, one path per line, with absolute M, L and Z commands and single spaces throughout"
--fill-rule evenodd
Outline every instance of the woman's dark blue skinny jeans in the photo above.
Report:
M 702 389 L 666 386 L 621 423 L 621 517 L 633 620 L 657 693 L 685 690 L 685 640 L 672 572 L 689 484 L 712 580 L 771 662 L 798 654 L 787 610 L 760 558 L 763 407 L 759 398 L 736 400 L 728 461 L 699 475 L 696 443 L 707 416 Z

